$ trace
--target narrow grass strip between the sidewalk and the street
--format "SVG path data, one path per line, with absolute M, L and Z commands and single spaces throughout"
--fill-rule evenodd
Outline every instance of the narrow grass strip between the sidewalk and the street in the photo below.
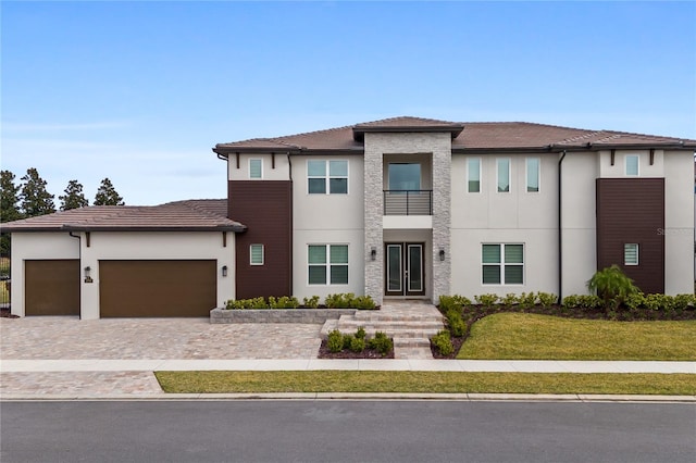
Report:
M 696 395 L 696 375 L 480 372 L 156 372 L 172 393 L 430 392 Z

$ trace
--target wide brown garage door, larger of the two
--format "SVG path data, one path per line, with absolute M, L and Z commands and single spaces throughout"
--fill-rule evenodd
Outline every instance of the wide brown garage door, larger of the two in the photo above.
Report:
M 99 306 L 111 316 L 209 316 L 215 261 L 99 261 Z

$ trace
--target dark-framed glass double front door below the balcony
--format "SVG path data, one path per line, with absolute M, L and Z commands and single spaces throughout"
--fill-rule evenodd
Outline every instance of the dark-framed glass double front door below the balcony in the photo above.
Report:
M 385 243 L 385 296 L 423 296 L 423 242 Z

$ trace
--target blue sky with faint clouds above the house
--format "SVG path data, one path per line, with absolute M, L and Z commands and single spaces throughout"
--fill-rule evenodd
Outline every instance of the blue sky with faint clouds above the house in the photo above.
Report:
M 217 142 L 398 115 L 696 139 L 696 2 L 2 1 L 3 170 L 224 198 Z

